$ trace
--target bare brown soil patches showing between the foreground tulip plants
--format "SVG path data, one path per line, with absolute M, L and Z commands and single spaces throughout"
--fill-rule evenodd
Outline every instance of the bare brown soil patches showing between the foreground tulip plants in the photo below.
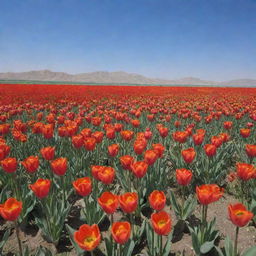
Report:
M 208 221 L 212 220 L 214 217 L 217 218 L 217 229 L 220 231 L 220 242 L 219 246 L 223 247 L 224 238 L 228 235 L 231 237 L 232 240 L 234 240 L 234 233 L 235 233 L 235 226 L 232 224 L 232 222 L 228 219 L 228 211 L 227 207 L 229 203 L 235 203 L 236 200 L 230 196 L 225 195 L 225 198 L 221 198 L 218 202 L 215 202 L 213 204 L 210 204 L 208 207 Z M 78 201 L 75 205 L 75 207 L 72 209 L 71 214 L 67 220 L 67 223 L 73 227 L 74 229 L 78 229 L 80 225 L 83 223 L 79 220 L 79 208 L 81 207 L 80 202 Z M 171 254 L 174 255 L 185 255 L 185 256 L 193 256 L 195 255 L 192 248 L 192 242 L 191 242 L 191 236 L 188 232 L 188 230 L 185 230 L 184 232 L 179 231 L 179 227 L 177 226 L 177 220 L 175 218 L 173 210 L 170 210 L 170 207 L 166 207 L 165 209 L 171 214 L 172 217 L 172 228 L 174 229 L 175 233 L 173 236 L 173 241 L 171 245 Z M 197 206 L 194 215 L 192 216 L 193 222 L 199 221 L 198 218 L 200 218 L 200 206 Z M 121 213 L 117 212 L 114 215 L 114 221 L 118 221 L 121 217 Z M 1 226 L 0 226 L 0 235 L 2 236 L 4 233 L 4 230 L 7 228 L 12 228 L 11 222 L 4 222 L 1 220 Z M 102 236 L 108 236 L 109 233 L 107 231 L 109 227 L 109 222 L 106 220 L 101 226 L 101 230 L 105 230 L 102 232 Z M 41 245 L 43 247 L 46 247 L 50 249 L 54 255 L 68 255 L 68 256 L 75 256 L 76 252 L 73 248 L 71 242 L 69 241 L 68 237 L 63 236 L 59 242 L 59 245 L 57 249 L 54 247 L 54 245 L 47 243 L 41 235 L 41 232 L 38 230 L 38 228 L 31 223 L 27 227 L 21 228 L 21 240 L 23 245 L 28 246 L 30 251 L 33 253 L 36 251 L 36 249 Z M 239 241 L 238 241 L 238 248 L 240 252 L 245 251 L 246 249 L 252 247 L 256 244 L 256 227 L 246 226 L 243 228 L 240 228 L 239 231 Z M 104 245 L 101 244 L 101 247 Z M 143 246 L 143 245 L 142 245 Z M 144 255 L 143 248 L 141 248 L 141 253 L 136 255 Z M 16 235 L 14 232 L 14 229 L 12 229 L 11 236 L 8 240 L 8 242 L 5 244 L 3 253 L 4 255 L 11 256 L 14 255 L 18 251 L 18 244 L 16 240 Z M 183 252 L 183 254 L 182 254 Z M 96 255 L 102 255 L 95 253 Z

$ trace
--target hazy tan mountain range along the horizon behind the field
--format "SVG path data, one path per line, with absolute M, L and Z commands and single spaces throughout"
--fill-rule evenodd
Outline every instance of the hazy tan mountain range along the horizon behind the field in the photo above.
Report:
M 98 71 L 75 75 L 65 72 L 52 72 L 50 70 L 38 70 L 20 73 L 7 72 L 0 73 L 0 80 L 61 81 L 104 84 L 256 86 L 256 80 L 253 79 L 215 82 L 205 81 L 195 77 L 185 77 L 178 80 L 166 80 L 159 78 L 148 78 L 139 74 L 127 73 L 123 71 Z

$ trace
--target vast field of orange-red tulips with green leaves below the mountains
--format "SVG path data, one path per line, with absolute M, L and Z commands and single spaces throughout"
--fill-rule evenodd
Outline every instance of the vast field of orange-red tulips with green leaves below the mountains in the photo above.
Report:
M 0 255 L 256 256 L 256 88 L 0 85 Z

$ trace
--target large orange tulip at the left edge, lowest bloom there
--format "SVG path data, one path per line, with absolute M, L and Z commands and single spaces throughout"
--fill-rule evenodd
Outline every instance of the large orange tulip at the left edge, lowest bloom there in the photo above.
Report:
M 5 220 L 14 221 L 16 220 L 22 211 L 22 202 L 17 201 L 11 197 L 0 204 L 0 214 Z

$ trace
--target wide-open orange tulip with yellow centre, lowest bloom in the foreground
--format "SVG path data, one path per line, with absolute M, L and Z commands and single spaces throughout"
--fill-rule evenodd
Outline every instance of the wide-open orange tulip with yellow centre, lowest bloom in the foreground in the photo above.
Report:
M 97 224 L 89 226 L 84 224 L 74 233 L 78 246 L 86 251 L 94 250 L 100 243 L 101 235 Z

